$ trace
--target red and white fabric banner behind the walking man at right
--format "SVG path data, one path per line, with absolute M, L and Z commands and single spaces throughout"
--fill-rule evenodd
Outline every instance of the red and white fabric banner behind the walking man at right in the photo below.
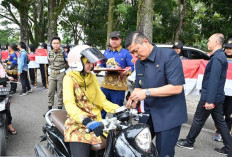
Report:
M 208 61 L 202 59 L 182 60 L 185 77 L 185 95 L 198 95 Z M 232 60 L 228 60 L 228 70 L 224 87 L 225 94 L 232 96 Z

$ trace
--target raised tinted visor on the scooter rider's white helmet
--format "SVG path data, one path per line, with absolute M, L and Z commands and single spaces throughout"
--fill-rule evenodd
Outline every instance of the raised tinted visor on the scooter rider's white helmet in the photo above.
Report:
M 87 48 L 81 51 L 81 54 L 85 56 L 91 63 L 95 63 L 98 61 L 106 61 L 107 58 L 95 47 Z

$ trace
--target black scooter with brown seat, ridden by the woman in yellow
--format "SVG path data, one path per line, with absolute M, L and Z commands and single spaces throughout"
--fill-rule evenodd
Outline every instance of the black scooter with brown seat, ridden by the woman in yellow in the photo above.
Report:
M 64 141 L 64 122 L 67 113 L 64 110 L 52 109 L 46 115 L 46 124 L 43 126 L 41 143 L 35 145 L 36 156 L 71 156 L 69 144 Z M 102 143 L 92 145 L 91 150 L 95 157 L 157 157 L 158 153 L 152 142 L 149 126 L 133 124 L 138 114 L 137 110 L 128 110 L 125 106 L 115 111 L 115 117 L 101 121 L 105 137 L 101 135 Z M 86 129 L 86 133 L 90 131 Z M 42 144 L 44 143 L 44 144 Z

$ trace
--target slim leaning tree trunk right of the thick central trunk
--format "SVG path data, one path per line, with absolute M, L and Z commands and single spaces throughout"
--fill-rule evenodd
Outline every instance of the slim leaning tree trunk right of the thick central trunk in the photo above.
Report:
M 179 24 L 176 28 L 176 34 L 174 41 L 178 41 L 180 34 L 181 34 L 181 28 L 183 26 L 183 20 L 186 15 L 186 9 L 187 9 L 188 2 L 187 0 L 184 0 L 184 4 L 181 4 L 181 0 L 178 0 L 178 12 L 179 12 Z

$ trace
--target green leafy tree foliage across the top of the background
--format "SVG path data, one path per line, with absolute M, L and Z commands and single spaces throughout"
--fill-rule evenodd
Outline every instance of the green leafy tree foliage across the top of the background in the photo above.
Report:
M 10 15 L 11 11 L 23 8 L 22 3 L 35 2 L 36 0 L 3 0 L 2 6 L 8 9 L 0 11 L 0 18 L 7 19 L 17 24 L 19 14 L 12 12 L 15 19 Z M 182 0 L 183 1 L 183 0 Z M 179 40 L 185 45 L 195 46 L 206 50 L 207 39 L 216 32 L 223 33 L 226 38 L 232 37 L 232 2 L 231 0 L 187 0 L 188 6 Z M 44 1 L 44 23 L 45 29 L 42 33 L 45 37 L 48 34 L 48 4 Z M 175 31 L 179 23 L 177 0 L 155 0 L 153 18 L 153 42 L 172 43 Z M 19 4 L 20 3 L 20 4 Z M 62 1 L 59 1 L 62 3 Z M 27 5 L 28 6 L 28 5 Z M 14 9 L 13 9 L 14 8 Z M 63 34 L 64 43 L 75 43 L 79 41 L 90 41 L 93 46 L 104 48 L 107 40 L 109 2 L 106 0 L 70 0 L 59 17 L 58 28 Z M 34 37 L 34 42 L 40 41 L 43 37 L 36 37 L 35 28 L 42 28 L 41 19 L 37 24 L 33 21 L 34 7 L 29 9 L 29 29 Z M 114 3 L 113 31 L 118 30 L 124 37 L 131 31 L 136 30 L 138 12 L 138 0 L 117 0 Z M 1 14 L 3 16 L 1 16 Z M 39 17 L 37 17 L 38 19 Z M 11 20 L 10 20 L 11 19 Z M 20 22 L 18 20 L 18 22 Z M 20 23 L 19 23 L 20 24 Z M 5 22 L 5 25 L 8 25 Z M 12 30 L 11 30 L 12 31 Z M 1 42 L 11 40 L 4 32 Z M 38 31 L 41 32 L 41 31 Z M 3 32 L 1 32 L 3 33 Z M 4 39 L 4 41 L 2 41 Z M 33 39 L 31 39 L 33 41 Z M 124 43 L 124 42 L 123 42 Z

